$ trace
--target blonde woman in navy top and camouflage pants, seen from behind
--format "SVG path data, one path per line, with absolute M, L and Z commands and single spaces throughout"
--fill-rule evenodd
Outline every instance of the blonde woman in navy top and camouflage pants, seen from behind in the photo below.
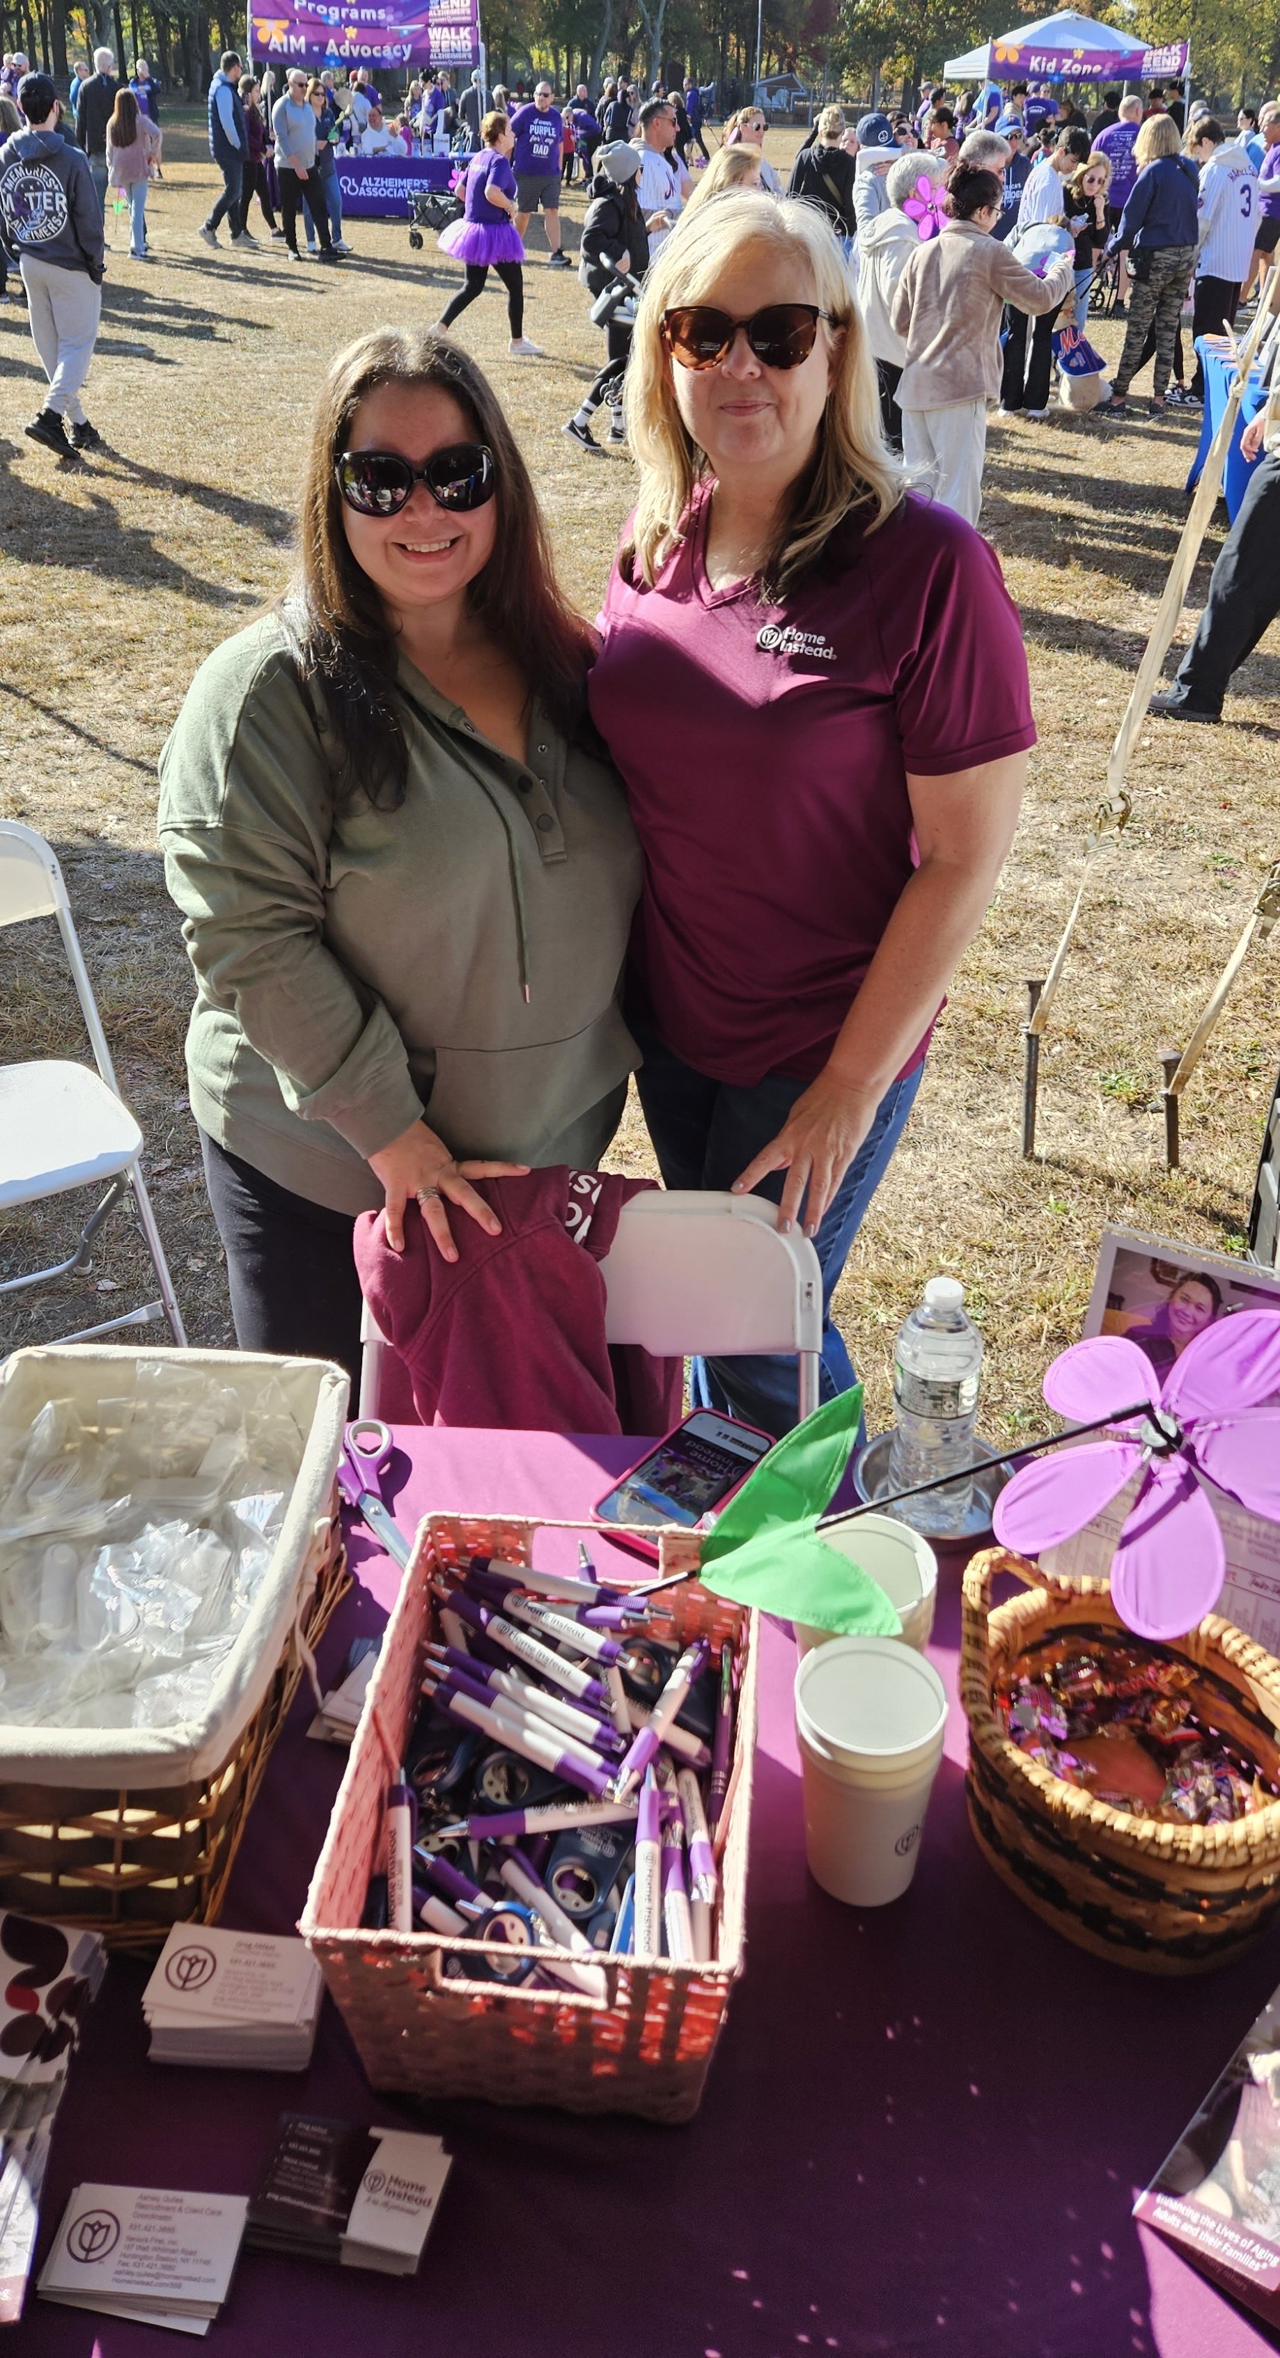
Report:
M 1181 156 L 1179 149 L 1181 132 L 1172 113 L 1148 116 L 1134 146 L 1139 177 L 1115 231 L 1115 245 L 1129 255 L 1129 325 L 1115 389 L 1110 401 L 1098 403 L 1098 417 L 1129 415 L 1127 394 L 1143 365 L 1148 330 L 1155 330 L 1150 408 L 1155 415 L 1164 410 L 1174 340 L 1200 236 L 1200 174 L 1190 156 Z

